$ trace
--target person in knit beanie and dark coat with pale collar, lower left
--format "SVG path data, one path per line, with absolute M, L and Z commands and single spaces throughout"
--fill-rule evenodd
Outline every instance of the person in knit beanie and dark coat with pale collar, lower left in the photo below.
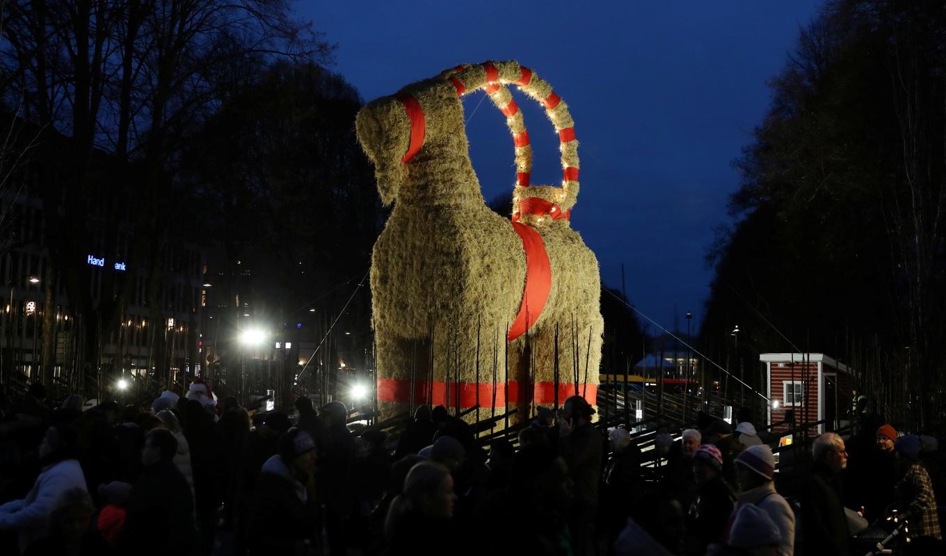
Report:
M 315 442 L 306 431 L 290 428 L 279 438 L 278 452 L 256 479 L 247 534 L 250 554 L 315 554 L 320 542 Z

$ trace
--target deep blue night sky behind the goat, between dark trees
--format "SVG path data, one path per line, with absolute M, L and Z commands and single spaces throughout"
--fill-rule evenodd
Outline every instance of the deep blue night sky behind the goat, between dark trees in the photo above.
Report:
M 300 2 L 331 43 L 335 71 L 365 100 L 462 62 L 517 60 L 569 103 L 581 142 L 572 227 L 597 253 L 604 284 L 668 328 L 699 321 L 705 253 L 730 223 L 730 163 L 751 141 L 799 26 L 821 1 Z M 512 140 L 483 94 L 466 96 L 470 155 L 483 196 L 511 195 Z M 558 184 L 557 136 L 517 97 L 534 148 L 533 184 Z M 478 106 L 479 105 L 479 106 Z M 474 113 L 475 110 L 475 113 Z M 653 331 L 653 328 L 651 328 Z

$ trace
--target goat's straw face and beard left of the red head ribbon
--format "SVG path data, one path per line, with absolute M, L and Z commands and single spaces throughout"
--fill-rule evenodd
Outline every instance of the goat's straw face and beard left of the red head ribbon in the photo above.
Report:
M 404 181 L 401 158 L 411 142 L 411 121 L 404 106 L 394 96 L 373 100 L 359 111 L 355 129 L 361 148 L 375 165 L 381 202 L 391 204 Z

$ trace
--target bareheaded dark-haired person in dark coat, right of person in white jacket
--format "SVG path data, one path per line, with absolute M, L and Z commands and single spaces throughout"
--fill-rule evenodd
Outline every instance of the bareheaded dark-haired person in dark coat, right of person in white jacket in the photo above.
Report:
M 187 480 L 174 465 L 177 439 L 155 428 L 141 451 L 141 478 L 134 483 L 118 534 L 122 554 L 189 554 L 197 546 L 194 502 Z

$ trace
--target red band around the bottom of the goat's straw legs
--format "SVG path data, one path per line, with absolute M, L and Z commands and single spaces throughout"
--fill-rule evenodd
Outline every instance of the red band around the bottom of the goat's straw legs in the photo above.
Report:
M 414 382 L 414 404 L 430 404 L 434 406 L 447 405 L 447 383 L 438 380 L 433 383 L 433 394 L 428 400 L 429 383 L 420 380 Z M 457 384 L 448 383 L 450 389 L 450 405 L 457 403 Z M 553 404 L 555 402 L 555 384 L 553 382 L 537 382 L 531 386 L 532 402 L 535 404 Z M 530 385 L 527 383 L 524 388 L 520 388 L 518 381 L 509 381 L 509 395 L 506 395 L 505 385 L 496 384 L 496 407 L 505 407 L 523 399 L 520 394 L 528 395 Z M 472 408 L 477 402 L 477 391 L 480 391 L 480 407 L 493 407 L 493 383 L 481 382 L 461 383 L 460 384 L 460 407 Z M 570 396 L 575 395 L 575 385 L 571 382 L 562 382 L 558 385 L 558 403 L 565 402 Z M 579 384 L 577 393 L 582 395 L 589 404 L 595 405 L 598 397 L 598 386 L 594 384 Z M 507 404 L 506 400 L 510 400 Z M 411 400 L 411 381 L 399 378 L 377 378 L 377 400 L 379 402 L 400 402 L 408 403 Z M 529 401 L 528 397 L 524 401 Z

